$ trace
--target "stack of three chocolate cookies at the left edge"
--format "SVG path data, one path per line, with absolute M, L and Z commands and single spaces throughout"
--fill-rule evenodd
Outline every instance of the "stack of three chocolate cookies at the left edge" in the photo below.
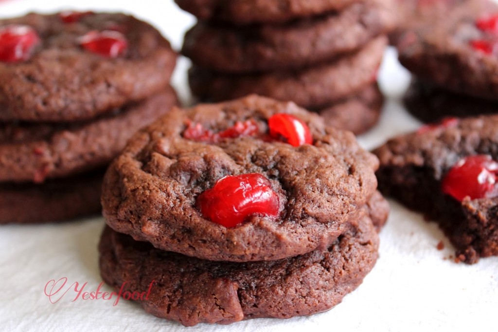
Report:
M 0 20 L 0 223 L 97 213 L 104 168 L 176 104 L 176 54 L 124 14 Z

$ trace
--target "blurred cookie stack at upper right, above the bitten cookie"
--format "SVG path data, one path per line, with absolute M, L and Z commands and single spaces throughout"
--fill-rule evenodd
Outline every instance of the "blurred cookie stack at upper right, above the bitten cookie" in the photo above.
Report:
M 405 97 L 424 122 L 498 112 L 498 6 L 468 0 L 405 32 L 399 60 L 414 74 Z

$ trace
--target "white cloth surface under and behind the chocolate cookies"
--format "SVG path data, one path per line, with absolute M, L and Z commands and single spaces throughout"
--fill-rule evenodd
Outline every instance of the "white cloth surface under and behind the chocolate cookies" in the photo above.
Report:
M 68 1 L 0 0 L 0 17 L 29 10 L 68 8 Z M 178 49 L 193 24 L 172 0 L 74 1 L 69 7 L 126 11 L 155 24 Z M 186 69 L 181 59 L 173 83 L 188 101 Z M 411 131 L 419 123 L 400 105 L 409 75 L 388 50 L 379 81 L 388 97 L 379 126 L 360 138 L 367 149 Z M 380 258 L 363 285 L 329 312 L 290 320 L 259 319 L 230 326 L 198 325 L 188 331 L 498 331 L 498 257 L 476 265 L 456 264 L 454 249 L 434 223 L 391 201 L 389 221 L 380 234 Z M 27 206 L 26 208 L 29 208 Z M 102 218 L 58 225 L 0 227 L 0 330 L 4 331 L 180 331 L 137 304 L 94 300 L 71 302 L 69 291 L 51 304 L 44 287 L 52 279 L 88 283 L 95 291 L 101 277 L 97 243 Z M 443 240 L 445 249 L 438 251 Z M 106 287 L 106 290 L 110 290 Z

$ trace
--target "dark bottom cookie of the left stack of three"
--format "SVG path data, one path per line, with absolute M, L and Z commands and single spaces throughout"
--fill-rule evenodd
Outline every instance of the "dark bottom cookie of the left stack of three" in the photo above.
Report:
M 43 184 L 1 183 L 0 224 L 45 223 L 101 212 L 104 170 Z

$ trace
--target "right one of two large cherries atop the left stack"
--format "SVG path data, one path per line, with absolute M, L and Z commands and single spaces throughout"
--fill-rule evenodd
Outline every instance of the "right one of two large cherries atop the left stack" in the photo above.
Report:
M 99 55 L 116 58 L 124 53 L 128 41 L 124 34 L 118 31 L 90 31 L 80 39 L 83 48 Z

